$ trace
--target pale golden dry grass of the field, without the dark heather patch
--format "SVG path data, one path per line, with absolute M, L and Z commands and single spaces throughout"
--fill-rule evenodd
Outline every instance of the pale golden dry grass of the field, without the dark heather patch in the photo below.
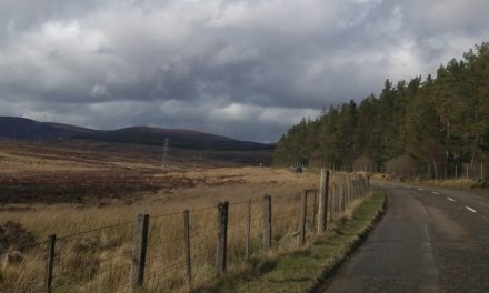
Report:
M 59 152 L 62 152 L 59 151 Z M 298 249 L 297 231 L 300 195 L 305 189 L 318 189 L 317 171 L 295 174 L 290 170 L 268 168 L 181 168 L 142 172 L 132 161 L 91 161 L 94 153 L 71 154 L 43 151 L 41 166 L 30 168 L 39 158 L 32 152 L 6 154 L 2 169 L 14 174 L 36 173 L 44 169 L 63 174 L 70 163 L 73 169 L 117 170 L 121 165 L 140 172 L 141 182 L 157 181 L 164 185 L 156 192 L 131 194 L 123 200 L 96 203 L 24 203 L 3 204 L 0 223 L 19 222 L 32 232 L 38 242 L 56 233 L 54 292 L 129 292 L 132 233 L 137 214 L 150 214 L 149 246 L 144 280 L 146 292 L 188 291 L 183 253 L 183 218 L 190 210 L 190 247 L 192 285 L 218 282 L 213 262 L 217 238 L 217 204 L 229 201 L 228 274 L 250 270 L 265 254 L 261 247 L 262 196 L 272 195 L 273 251 L 279 255 Z M 51 155 L 51 156 L 50 156 Z M 8 160 L 6 158 L 9 158 Z M 116 169 L 114 169 L 116 165 Z M 89 171 L 90 171 L 89 170 Z M 70 169 L 72 171 L 72 169 Z M 93 174 L 97 174 L 94 172 Z M 333 182 L 333 178 L 331 181 Z M 96 181 L 94 181 L 96 182 Z M 119 185 L 118 185 L 119 186 Z M 124 185 L 120 185 L 124 189 Z M 90 190 L 87 191 L 90 196 Z M 248 201 L 252 200 L 251 260 L 243 261 Z M 128 202 L 130 204 L 128 204 Z M 312 210 L 312 196 L 308 209 Z M 107 226 L 107 228 L 106 228 Z M 77 232 L 90 231 L 78 234 Z M 308 230 L 313 231 L 312 214 Z M 73 235 L 74 234 L 74 235 Z M 23 262 L 7 264 L 1 272 L 1 292 L 41 292 L 47 257 L 47 244 L 23 252 Z

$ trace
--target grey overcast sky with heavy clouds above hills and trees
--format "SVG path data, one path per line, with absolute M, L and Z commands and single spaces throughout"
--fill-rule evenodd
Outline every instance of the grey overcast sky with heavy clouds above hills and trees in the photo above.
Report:
M 0 0 L 0 115 L 263 142 L 489 40 L 487 0 Z

